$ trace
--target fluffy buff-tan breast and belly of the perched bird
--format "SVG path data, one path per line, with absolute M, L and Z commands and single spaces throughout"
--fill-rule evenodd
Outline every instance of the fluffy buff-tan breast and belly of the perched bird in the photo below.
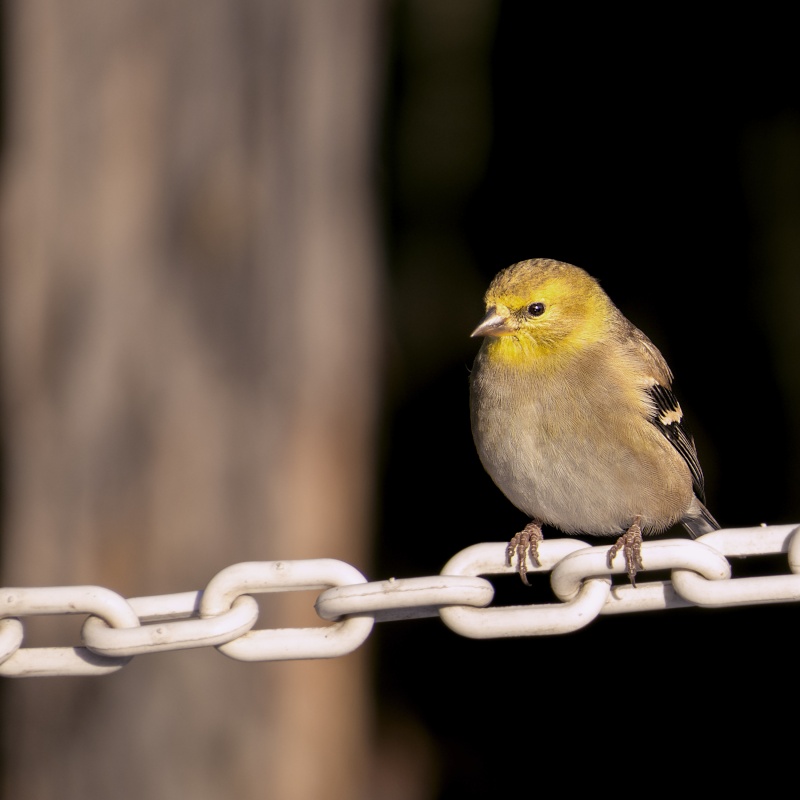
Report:
M 679 456 L 635 389 L 592 363 L 576 368 L 476 362 L 472 429 L 487 472 L 514 505 L 565 532 L 614 534 L 637 514 L 652 529 L 674 524 L 691 501 L 688 476 L 676 481 L 667 469 Z

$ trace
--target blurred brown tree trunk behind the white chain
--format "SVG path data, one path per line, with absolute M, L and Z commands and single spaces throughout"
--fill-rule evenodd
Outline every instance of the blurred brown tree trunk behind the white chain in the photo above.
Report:
M 6 585 L 134 596 L 242 560 L 366 564 L 378 11 L 7 3 Z M 262 625 L 315 624 L 285 598 Z M 66 644 L 63 620 L 36 632 Z M 363 649 L 2 688 L 7 798 L 362 796 Z

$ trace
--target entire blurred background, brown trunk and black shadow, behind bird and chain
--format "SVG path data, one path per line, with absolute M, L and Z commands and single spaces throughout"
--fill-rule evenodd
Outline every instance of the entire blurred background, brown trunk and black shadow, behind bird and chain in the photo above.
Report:
M 507 540 L 526 520 L 472 446 L 469 333 L 491 277 L 537 256 L 595 275 L 662 350 L 723 526 L 800 521 L 788 20 L 2 10 L 4 585 L 166 594 L 317 557 L 413 577 Z M 312 603 L 270 597 L 263 625 L 314 624 Z M 208 649 L 4 679 L 3 797 L 449 800 L 554 770 L 652 786 L 687 740 L 756 774 L 782 746 L 797 621 L 685 609 L 476 642 L 418 620 L 331 661 Z M 75 641 L 34 622 L 30 644 Z

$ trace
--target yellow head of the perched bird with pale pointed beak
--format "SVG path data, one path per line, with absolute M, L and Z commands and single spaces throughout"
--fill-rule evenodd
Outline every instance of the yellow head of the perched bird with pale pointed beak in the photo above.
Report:
M 601 341 L 619 313 L 591 275 L 547 258 L 499 272 L 485 301 L 472 336 L 487 337 L 491 357 L 515 363 L 579 352 Z

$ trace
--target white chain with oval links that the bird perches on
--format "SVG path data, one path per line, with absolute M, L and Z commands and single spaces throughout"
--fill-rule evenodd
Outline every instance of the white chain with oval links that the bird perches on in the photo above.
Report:
M 439 616 L 473 639 L 543 636 L 582 628 L 601 614 L 687 606 L 718 608 L 800 600 L 800 525 L 729 528 L 694 541 L 665 539 L 642 547 L 636 586 L 613 584 L 623 559 L 609 569 L 608 546 L 546 539 L 541 566 L 559 602 L 492 606 L 485 577 L 513 574 L 506 543 L 457 553 L 440 575 L 370 581 L 334 559 L 251 561 L 226 567 L 201 591 L 125 599 L 99 586 L 0 589 L 0 675 L 104 675 L 133 656 L 216 647 L 242 661 L 334 658 L 360 647 L 375 622 Z M 788 573 L 733 578 L 729 559 L 785 553 Z M 643 580 L 669 571 L 669 580 Z M 315 609 L 327 624 L 255 629 L 254 594 L 319 591 Z M 25 617 L 84 614 L 81 645 L 23 647 Z

